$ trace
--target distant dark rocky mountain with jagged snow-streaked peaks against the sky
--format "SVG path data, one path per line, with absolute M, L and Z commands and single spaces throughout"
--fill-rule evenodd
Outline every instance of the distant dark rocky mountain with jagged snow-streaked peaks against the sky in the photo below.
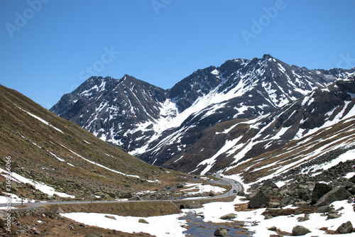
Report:
M 354 71 L 307 70 L 264 55 L 197 70 L 168 90 L 128 75 L 91 77 L 51 111 L 142 160 L 174 158 L 182 167 L 192 162 L 182 155 L 217 123 L 263 118 Z

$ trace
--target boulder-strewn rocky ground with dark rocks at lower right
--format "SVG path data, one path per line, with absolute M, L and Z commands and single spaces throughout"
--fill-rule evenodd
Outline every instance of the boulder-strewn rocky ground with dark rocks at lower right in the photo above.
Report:
M 293 228 L 292 233 L 280 231 L 283 226 L 275 223 L 275 226 L 269 229 L 275 231 L 275 235 L 272 236 L 312 234 L 309 229 L 302 226 L 302 222 L 310 220 L 310 214 L 324 216 L 327 220 L 337 219 L 342 216 L 344 207 L 334 209 L 332 203 L 342 200 L 347 200 L 352 205 L 351 211 L 355 211 L 355 161 L 339 162 L 324 170 L 307 168 L 332 162 L 349 150 L 354 150 L 354 147 L 333 150 L 282 175 L 252 184 L 247 190 L 248 194 L 244 192 L 239 194 L 249 200 L 246 204 L 247 209 L 266 208 L 263 211 L 264 219 L 273 219 L 276 216 L 299 216 L 297 221 L 300 224 Z M 353 176 L 349 177 L 348 174 Z M 324 227 L 321 231 L 324 231 L 324 234 L 354 233 L 353 224 L 355 224 L 354 219 L 350 218 L 334 229 Z

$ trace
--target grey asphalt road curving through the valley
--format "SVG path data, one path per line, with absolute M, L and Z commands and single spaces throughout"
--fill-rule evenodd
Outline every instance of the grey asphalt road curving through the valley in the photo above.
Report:
M 229 185 L 231 186 L 231 190 L 229 192 L 226 192 L 225 194 L 217 195 L 214 197 L 209 197 L 209 199 L 219 199 L 223 197 L 231 197 L 236 195 L 239 191 L 241 191 L 242 186 L 239 182 L 236 182 L 235 180 L 228 179 L 226 177 L 222 177 L 221 175 L 216 175 L 215 177 L 218 177 L 220 180 L 214 180 L 210 183 L 214 184 L 224 184 L 224 185 Z M 236 190 L 236 191 L 234 191 Z M 200 197 L 197 197 L 195 199 L 202 199 Z M 203 198 L 205 199 L 205 198 Z M 181 199 L 183 200 L 183 199 Z M 170 200 L 128 200 L 128 201 L 67 201 L 67 202 L 26 202 L 23 203 L 26 205 L 26 207 L 21 208 L 21 210 L 26 210 L 26 209 L 36 209 L 40 206 L 44 206 L 47 204 L 89 204 L 89 203 L 109 203 L 109 202 L 116 202 L 116 203 L 121 203 L 121 202 L 170 202 L 174 201 L 174 199 Z M 7 206 L 6 203 L 0 203 L 0 206 Z M 11 203 L 11 206 L 21 206 L 21 203 Z M 16 209 L 15 209 L 16 210 Z

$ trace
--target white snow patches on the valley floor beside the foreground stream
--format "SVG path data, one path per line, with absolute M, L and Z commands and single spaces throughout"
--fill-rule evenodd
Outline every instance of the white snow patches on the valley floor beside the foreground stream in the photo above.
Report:
M 297 217 L 304 216 L 304 214 L 294 216 L 277 216 L 272 219 L 264 219 L 261 215 L 266 209 L 257 209 L 253 211 L 234 211 L 235 204 L 242 204 L 246 201 L 241 201 L 242 197 L 236 197 L 233 202 L 212 202 L 204 204 L 200 209 L 184 209 L 182 214 L 172 214 L 167 216 L 152 216 L 152 217 L 136 217 L 136 216 L 117 216 L 111 214 L 97 214 L 97 213 L 67 213 L 61 214 L 69 219 L 87 224 L 90 226 L 98 226 L 102 228 L 115 229 L 117 231 L 124 231 L 128 233 L 133 232 L 146 232 L 155 236 L 185 236 L 181 225 L 187 224 L 185 220 L 179 220 L 178 218 L 185 215 L 189 211 L 195 211 L 196 213 L 203 213 L 204 221 L 212 221 L 214 223 L 224 223 L 226 220 L 220 219 L 221 216 L 229 213 L 236 214 L 236 218 L 233 221 L 245 221 L 245 227 L 249 231 L 255 231 L 253 236 L 270 236 L 275 234 L 275 231 L 268 231 L 268 228 L 275 226 L 280 228 L 281 231 L 287 231 L 292 233 L 294 226 L 304 226 L 310 229 L 311 233 L 305 235 L 310 236 L 329 236 L 325 234 L 325 231 L 320 231 L 320 228 L 327 227 L 329 230 L 336 230 L 338 226 L 346 221 L 352 221 L 355 224 L 355 212 L 352 209 L 352 204 L 349 204 L 346 200 L 333 202 L 334 209 L 344 207 L 339 214 L 341 217 L 337 219 L 327 219 L 327 216 L 321 216 L 320 213 L 310 214 L 308 221 L 298 222 Z M 285 208 L 290 208 L 286 206 Z M 114 216 L 114 219 L 108 219 L 105 215 Z M 138 223 L 139 219 L 145 219 L 149 224 Z M 255 225 L 257 224 L 257 225 Z M 354 236 L 354 233 L 343 234 L 342 236 Z

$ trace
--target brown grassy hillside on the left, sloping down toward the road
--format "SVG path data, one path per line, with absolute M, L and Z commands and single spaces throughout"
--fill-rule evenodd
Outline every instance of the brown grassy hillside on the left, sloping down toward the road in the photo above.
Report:
M 145 180 L 171 180 L 173 176 L 55 116 L 23 94 L 0 86 L 0 167 L 3 169 L 7 156 L 13 161 L 13 172 L 78 196 L 97 191 L 119 194 L 155 189 L 158 184 Z M 80 156 L 140 178 L 119 175 Z

